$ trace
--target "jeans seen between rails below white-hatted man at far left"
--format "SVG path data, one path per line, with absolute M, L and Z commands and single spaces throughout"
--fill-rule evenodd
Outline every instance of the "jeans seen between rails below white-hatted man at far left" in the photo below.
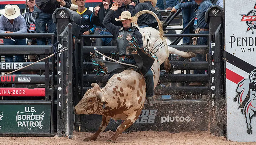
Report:
M 27 45 L 26 39 L 14 39 L 15 41 L 12 41 L 11 39 L 4 39 L 4 45 Z M 18 55 L 15 56 L 14 62 L 23 62 L 25 59 L 24 55 Z M 5 55 L 5 62 L 13 62 L 13 56 L 12 55 Z M 20 71 L 14 72 L 13 74 L 18 75 L 21 74 Z

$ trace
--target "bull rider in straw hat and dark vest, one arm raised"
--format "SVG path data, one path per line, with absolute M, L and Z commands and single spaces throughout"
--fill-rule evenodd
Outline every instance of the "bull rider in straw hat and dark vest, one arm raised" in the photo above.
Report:
M 114 36 L 116 39 L 117 44 L 117 51 L 118 51 L 118 57 L 119 62 L 132 64 L 132 65 L 138 65 L 141 64 L 141 62 L 138 62 L 138 59 L 135 59 L 134 52 L 131 52 L 129 50 L 129 47 L 131 47 L 131 44 L 129 44 L 131 41 L 137 41 L 137 44 L 140 48 L 143 47 L 143 41 L 142 41 L 142 35 L 140 34 L 139 30 L 136 27 L 132 27 L 131 23 L 137 21 L 137 17 L 132 17 L 130 12 L 124 11 L 121 14 L 121 18 L 117 19 L 116 21 L 122 21 L 123 27 L 121 26 L 115 26 L 114 24 L 111 24 L 111 17 L 115 13 L 115 11 L 118 9 L 118 4 L 114 3 L 112 7 L 110 8 L 110 11 L 105 16 L 103 20 L 104 26 L 108 29 L 108 31 Z M 143 55 L 143 54 L 140 54 Z M 153 60 L 154 62 L 154 60 Z M 143 67 L 144 64 L 143 63 Z M 153 73 L 151 71 L 151 66 L 147 68 L 140 68 L 140 71 L 142 74 L 144 74 L 144 77 L 146 79 L 146 99 L 148 101 L 149 105 L 153 105 L 153 95 L 154 95 L 154 81 L 153 81 Z M 134 69 L 135 70 L 135 69 Z M 143 72 L 144 71 L 144 72 Z M 112 74 L 113 75 L 113 74 Z

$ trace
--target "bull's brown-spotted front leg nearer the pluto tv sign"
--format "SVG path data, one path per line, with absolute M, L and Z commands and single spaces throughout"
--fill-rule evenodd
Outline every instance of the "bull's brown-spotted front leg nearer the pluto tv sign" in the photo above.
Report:
M 142 105 L 142 107 L 143 107 L 143 105 Z M 142 107 L 140 109 L 138 109 L 137 112 L 132 113 L 129 116 L 127 116 L 125 121 L 117 127 L 116 133 L 107 141 L 115 142 L 117 136 L 119 134 L 121 134 L 123 131 L 125 131 L 126 129 L 128 129 L 138 119 L 140 112 L 142 110 Z

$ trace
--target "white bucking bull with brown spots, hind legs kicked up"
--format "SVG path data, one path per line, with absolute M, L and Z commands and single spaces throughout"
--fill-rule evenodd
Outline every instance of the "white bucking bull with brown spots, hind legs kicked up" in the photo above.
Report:
M 142 14 L 153 15 L 158 22 L 159 31 L 151 27 L 140 28 L 137 22 L 133 23 L 143 36 L 143 44 L 148 43 L 149 48 L 155 48 L 160 43 L 163 46 L 156 52 L 156 57 L 151 69 L 154 72 L 154 88 L 157 85 L 160 76 L 160 65 L 164 63 L 165 70 L 168 71 L 170 63 L 168 60 L 169 54 L 177 54 L 182 57 L 194 57 L 195 54 L 191 52 L 179 51 L 175 48 L 168 47 L 163 37 L 164 31 L 162 24 L 155 13 L 151 11 L 140 11 L 135 16 L 139 17 Z M 150 34 L 151 33 L 151 34 Z M 146 38 L 150 36 L 150 41 L 146 42 Z M 152 50 L 154 52 L 154 50 Z M 76 114 L 98 114 L 102 115 L 102 122 L 98 131 L 91 137 L 86 138 L 84 141 L 96 140 L 101 132 L 103 132 L 110 118 L 122 119 L 124 122 L 120 124 L 116 133 L 108 140 L 115 141 L 117 136 L 124 130 L 128 129 L 139 117 L 140 112 L 144 106 L 146 97 L 146 83 L 142 75 L 133 70 L 124 70 L 119 74 L 115 74 L 110 78 L 104 88 L 100 88 L 98 84 L 92 83 L 93 88 L 89 89 L 75 106 Z

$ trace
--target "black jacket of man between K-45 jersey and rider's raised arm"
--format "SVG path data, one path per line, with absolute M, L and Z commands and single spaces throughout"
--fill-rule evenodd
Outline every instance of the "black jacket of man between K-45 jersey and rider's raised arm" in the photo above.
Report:
M 103 3 L 101 3 L 100 5 L 97 5 L 97 6 L 100 6 L 100 10 L 98 11 L 98 15 L 97 16 L 94 15 L 94 10 L 93 10 L 92 17 L 91 17 L 92 24 L 94 24 L 95 26 L 100 26 L 100 27 L 105 28 L 105 26 L 103 25 L 103 20 L 104 20 L 104 17 L 109 12 L 112 4 L 113 3 L 111 3 L 108 6 L 107 10 L 105 10 Z

